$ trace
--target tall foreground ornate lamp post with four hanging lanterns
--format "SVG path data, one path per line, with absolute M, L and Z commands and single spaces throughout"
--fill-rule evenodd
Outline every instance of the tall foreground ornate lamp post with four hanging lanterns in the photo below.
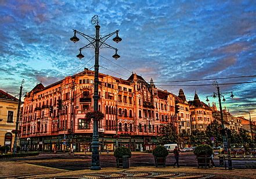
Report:
M 113 38 L 114 42 L 118 43 L 122 39 L 118 36 L 118 32 L 114 31 L 112 33 L 109 33 L 108 35 L 105 36 L 100 36 L 99 35 L 99 19 L 98 16 L 95 15 L 92 17 L 91 20 L 92 24 L 95 25 L 95 36 L 89 36 L 86 35 L 85 33 L 79 32 L 75 29 L 74 31 L 74 36 L 70 38 L 71 41 L 78 42 L 80 39 L 77 38 L 76 34 L 81 35 L 84 37 L 86 40 L 89 41 L 88 44 L 86 44 L 84 47 L 81 47 L 79 49 L 80 53 L 77 55 L 78 58 L 84 58 L 84 55 L 81 53 L 83 49 L 86 48 L 94 48 L 95 49 L 95 65 L 94 65 L 94 94 L 93 94 L 93 110 L 98 111 L 98 100 L 99 100 L 99 49 L 100 48 L 109 48 L 116 50 L 116 53 L 112 56 L 113 58 L 117 59 L 120 57 L 120 55 L 117 54 L 117 49 L 110 46 L 109 44 L 106 43 L 106 40 L 110 38 L 110 36 L 116 34 L 116 37 Z M 93 118 L 93 135 L 92 135 L 92 163 L 91 163 L 91 170 L 100 170 L 100 161 L 99 161 L 99 133 L 98 133 L 98 121 Z

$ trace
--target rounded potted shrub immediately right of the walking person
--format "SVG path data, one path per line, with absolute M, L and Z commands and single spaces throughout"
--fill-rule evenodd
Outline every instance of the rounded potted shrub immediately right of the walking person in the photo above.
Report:
M 196 155 L 198 167 L 211 167 L 211 155 L 213 150 L 211 146 L 202 144 L 196 147 L 194 155 Z

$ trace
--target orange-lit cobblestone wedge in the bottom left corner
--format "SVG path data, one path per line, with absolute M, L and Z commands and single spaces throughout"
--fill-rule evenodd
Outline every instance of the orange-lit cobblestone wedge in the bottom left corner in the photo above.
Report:
M 66 170 L 31 165 L 23 162 L 1 161 L 0 178 L 28 177 L 41 174 L 63 173 Z

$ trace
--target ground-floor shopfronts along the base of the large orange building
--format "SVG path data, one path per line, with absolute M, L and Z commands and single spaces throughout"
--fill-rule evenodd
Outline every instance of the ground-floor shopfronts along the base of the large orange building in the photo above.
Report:
M 114 138 L 113 135 L 99 135 L 99 151 L 114 151 L 117 140 L 119 147 L 128 147 L 131 151 L 153 150 L 158 144 L 154 136 L 120 135 Z M 91 142 L 92 134 L 38 136 L 21 138 L 20 147 L 21 151 L 68 151 L 69 148 L 74 148 L 76 152 L 89 152 Z

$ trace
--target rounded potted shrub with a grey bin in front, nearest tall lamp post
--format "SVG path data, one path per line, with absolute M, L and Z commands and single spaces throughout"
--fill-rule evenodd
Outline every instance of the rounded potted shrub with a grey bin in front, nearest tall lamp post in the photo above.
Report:
M 124 165 L 129 167 L 129 158 L 131 158 L 132 156 L 132 153 L 129 150 L 129 148 L 117 147 L 116 150 L 114 151 L 114 156 L 116 157 L 117 167 L 120 167 L 120 166 L 124 167 Z M 127 159 L 126 162 L 128 162 L 128 163 L 124 163 L 124 165 L 122 160 L 123 157 L 125 157 L 125 159 Z

